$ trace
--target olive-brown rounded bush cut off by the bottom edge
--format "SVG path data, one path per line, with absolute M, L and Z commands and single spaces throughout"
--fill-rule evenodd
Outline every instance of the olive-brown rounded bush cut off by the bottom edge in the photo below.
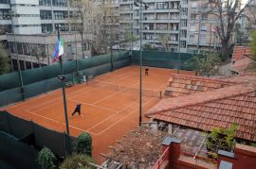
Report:
M 86 155 L 73 154 L 67 157 L 62 163 L 60 169 L 89 169 L 96 168 L 89 164 L 89 162 L 94 163 L 94 161 Z

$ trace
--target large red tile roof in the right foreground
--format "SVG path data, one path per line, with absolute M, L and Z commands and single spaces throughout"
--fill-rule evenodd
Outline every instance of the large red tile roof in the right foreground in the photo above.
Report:
M 237 124 L 237 137 L 256 141 L 256 80 L 253 79 L 213 91 L 163 99 L 146 115 L 202 130 Z

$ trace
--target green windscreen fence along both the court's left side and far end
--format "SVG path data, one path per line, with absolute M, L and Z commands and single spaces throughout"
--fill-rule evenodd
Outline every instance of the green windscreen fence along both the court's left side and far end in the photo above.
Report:
M 71 81 L 75 76 L 77 69 L 84 76 L 99 76 L 133 64 L 139 64 L 139 51 L 114 52 L 113 55 L 105 54 L 86 59 L 66 61 L 63 64 L 64 76 L 66 81 Z M 192 59 L 191 54 L 158 51 L 143 51 L 142 64 L 153 67 L 162 67 L 170 69 L 194 70 L 188 67 L 185 62 Z M 113 68 L 111 61 L 113 61 Z M 21 83 L 18 73 L 11 73 L 0 76 L 0 107 L 10 103 L 18 102 L 25 98 L 46 93 L 61 88 L 62 83 L 57 76 L 62 75 L 60 64 L 54 64 L 37 69 L 22 71 L 24 88 L 21 89 Z M 22 92 L 24 91 L 24 95 Z

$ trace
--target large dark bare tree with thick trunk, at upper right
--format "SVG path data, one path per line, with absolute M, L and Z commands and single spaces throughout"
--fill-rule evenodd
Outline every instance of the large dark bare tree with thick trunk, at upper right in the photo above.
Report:
M 210 13 L 215 15 L 218 20 L 216 26 L 217 34 L 221 40 L 221 54 L 223 59 L 229 59 L 233 43 L 230 42 L 235 23 L 244 14 L 245 9 L 252 2 L 248 0 L 247 4 L 241 8 L 241 0 L 209 0 Z

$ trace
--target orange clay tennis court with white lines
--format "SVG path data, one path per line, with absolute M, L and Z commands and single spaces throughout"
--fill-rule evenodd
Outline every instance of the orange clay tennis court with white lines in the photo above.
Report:
M 149 76 L 143 68 L 143 113 L 160 100 L 160 91 L 165 91 L 170 74 L 175 70 L 150 68 Z M 181 74 L 193 75 L 181 71 Z M 109 145 L 120 140 L 129 130 L 137 127 L 139 115 L 139 67 L 130 66 L 111 73 L 96 76 L 87 84 L 77 84 L 66 88 L 69 130 L 72 136 L 82 131 L 91 134 L 93 158 L 103 161 L 100 153 L 109 151 Z M 82 104 L 83 117 L 71 113 L 77 103 Z M 65 131 L 64 104 L 62 89 L 45 93 L 25 102 L 6 107 L 13 115 L 47 128 Z M 149 119 L 142 116 L 143 121 Z

